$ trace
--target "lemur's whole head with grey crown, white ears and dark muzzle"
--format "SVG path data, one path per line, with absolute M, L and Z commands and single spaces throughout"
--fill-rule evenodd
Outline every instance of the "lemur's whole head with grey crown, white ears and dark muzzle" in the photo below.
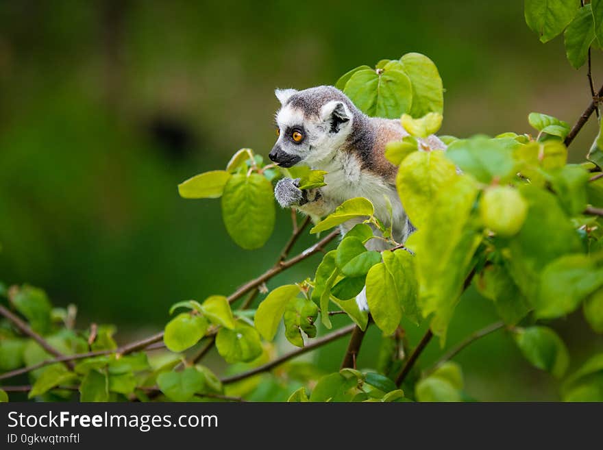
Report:
M 341 90 L 318 86 L 306 90 L 277 89 L 278 139 L 269 158 L 282 167 L 317 164 L 332 158 L 352 132 L 362 112 Z

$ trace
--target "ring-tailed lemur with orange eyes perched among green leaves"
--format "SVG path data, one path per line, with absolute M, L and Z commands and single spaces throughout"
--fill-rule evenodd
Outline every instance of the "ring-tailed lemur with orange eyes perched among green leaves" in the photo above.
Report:
M 274 191 L 278 203 L 283 208 L 295 206 L 306 214 L 325 216 L 347 199 L 366 197 L 375 206 L 375 216 L 389 226 L 387 197 L 393 210 L 393 238 L 404 242 L 414 227 L 397 195 L 397 166 L 384 156 L 387 142 L 408 136 L 400 121 L 363 114 L 332 86 L 277 89 L 275 95 L 282 106 L 276 113 L 279 137 L 269 158 L 282 167 L 302 162 L 328 172 L 327 185 L 322 188 L 300 190 L 299 179 L 280 179 Z M 432 149 L 445 149 L 436 136 L 427 139 Z M 343 223 L 342 234 L 361 221 Z M 380 251 L 387 245 L 384 240 L 371 239 L 367 248 Z M 368 309 L 365 290 L 356 301 L 361 309 Z

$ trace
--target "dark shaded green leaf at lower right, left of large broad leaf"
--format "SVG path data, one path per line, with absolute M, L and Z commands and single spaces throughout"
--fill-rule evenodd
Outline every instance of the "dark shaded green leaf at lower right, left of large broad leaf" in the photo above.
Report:
M 504 266 L 487 266 L 476 278 L 475 285 L 481 295 L 494 302 L 497 314 L 507 325 L 516 325 L 530 312 L 528 299 Z

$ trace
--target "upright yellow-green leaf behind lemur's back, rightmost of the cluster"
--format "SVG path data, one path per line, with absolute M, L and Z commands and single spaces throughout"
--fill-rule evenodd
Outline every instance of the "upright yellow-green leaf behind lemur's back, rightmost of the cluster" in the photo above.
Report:
M 409 114 L 413 117 L 422 117 L 428 112 L 442 114 L 444 89 L 433 61 L 421 53 L 406 53 L 400 62 L 413 87 L 413 104 Z

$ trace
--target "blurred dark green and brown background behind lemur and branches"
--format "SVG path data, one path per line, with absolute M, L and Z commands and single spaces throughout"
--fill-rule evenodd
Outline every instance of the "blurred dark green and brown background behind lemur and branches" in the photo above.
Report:
M 289 214 L 279 212 L 263 249 L 244 251 L 219 201 L 180 199 L 177 184 L 223 168 L 241 147 L 267 155 L 275 87 L 334 84 L 409 51 L 439 67 L 444 134 L 529 132 L 531 111 L 573 123 L 589 103 L 584 68 L 569 66 L 562 38 L 542 45 L 532 35 L 519 0 L 0 2 L 0 280 L 76 303 L 80 326 L 115 323 L 122 342 L 160 329 L 175 301 L 227 295 L 271 266 Z M 592 121 L 571 157 L 595 134 Z M 317 258 L 269 287 L 311 275 Z M 448 342 L 492 321 L 492 305 L 471 289 Z M 580 313 L 554 327 L 571 368 L 603 346 Z M 407 331 L 417 342 L 423 329 Z M 369 333 L 360 367 L 375 364 L 379 338 Z M 344 346 L 310 359 L 336 370 Z M 422 358 L 438 352 L 434 342 Z M 504 333 L 456 360 L 475 399 L 558 399 L 558 382 Z

